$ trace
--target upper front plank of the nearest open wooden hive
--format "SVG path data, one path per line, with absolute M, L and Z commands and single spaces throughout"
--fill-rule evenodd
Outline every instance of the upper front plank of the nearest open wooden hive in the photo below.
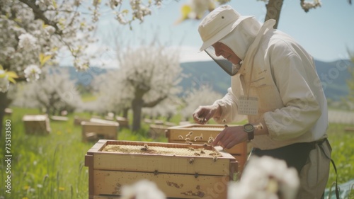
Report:
M 234 159 L 234 157 L 232 157 Z M 236 161 L 234 159 L 234 161 Z M 205 174 L 229 176 L 230 159 L 224 157 L 176 157 L 154 154 L 93 154 L 93 169 L 144 171 L 173 174 Z

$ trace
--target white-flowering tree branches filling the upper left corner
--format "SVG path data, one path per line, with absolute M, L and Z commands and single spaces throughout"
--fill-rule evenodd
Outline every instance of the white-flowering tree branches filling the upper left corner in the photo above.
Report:
M 131 0 L 128 8 L 122 4 L 122 0 L 0 1 L 0 135 L 10 81 L 40 78 L 42 67 L 55 64 L 62 50 L 71 53 L 76 69 L 88 68 L 92 57 L 86 49 L 96 41 L 91 33 L 101 7 L 109 6 L 119 23 L 130 25 L 144 21 L 152 6 L 161 6 L 161 0 Z

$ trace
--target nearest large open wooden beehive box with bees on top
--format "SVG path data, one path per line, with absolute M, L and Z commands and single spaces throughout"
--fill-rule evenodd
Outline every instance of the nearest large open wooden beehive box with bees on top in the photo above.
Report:
M 103 152 L 106 146 L 133 145 L 139 149 L 217 151 L 219 157 L 160 154 L 159 152 Z M 164 150 L 164 149 L 161 149 Z M 156 149 L 157 151 L 157 149 Z M 120 189 L 142 179 L 154 181 L 167 198 L 227 198 L 227 184 L 234 179 L 237 161 L 226 152 L 203 145 L 162 142 L 99 140 L 85 156 L 89 167 L 89 198 L 119 198 Z

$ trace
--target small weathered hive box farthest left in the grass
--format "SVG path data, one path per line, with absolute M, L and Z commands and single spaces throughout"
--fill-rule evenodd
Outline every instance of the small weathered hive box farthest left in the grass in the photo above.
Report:
M 47 115 L 23 115 L 26 134 L 47 135 L 50 133 L 50 120 Z

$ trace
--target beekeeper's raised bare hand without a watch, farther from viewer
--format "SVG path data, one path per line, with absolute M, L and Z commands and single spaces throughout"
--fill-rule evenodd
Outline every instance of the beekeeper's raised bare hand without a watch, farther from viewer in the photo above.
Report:
M 217 117 L 221 113 L 219 105 L 199 106 L 193 113 L 195 123 L 204 125 L 210 118 Z

